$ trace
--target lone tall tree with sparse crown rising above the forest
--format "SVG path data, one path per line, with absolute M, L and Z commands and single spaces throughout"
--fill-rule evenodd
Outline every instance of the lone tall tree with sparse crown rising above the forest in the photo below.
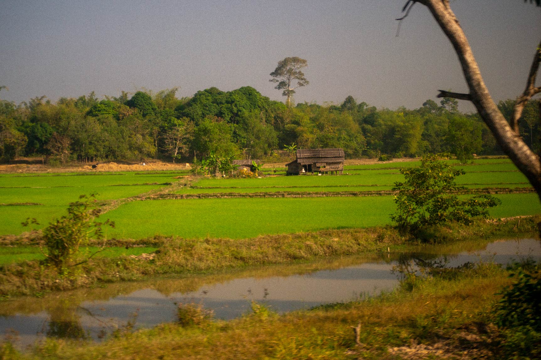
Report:
M 295 94 L 295 89 L 301 86 L 306 86 L 309 81 L 304 77 L 302 68 L 308 66 L 308 62 L 300 57 L 286 57 L 278 62 L 278 66 L 271 72 L 273 77 L 269 81 L 272 83 L 278 83 L 274 86 L 274 89 L 282 90 L 282 96 L 287 96 L 286 105 L 291 106 L 291 97 Z M 293 81 L 297 81 L 297 86 L 292 87 Z

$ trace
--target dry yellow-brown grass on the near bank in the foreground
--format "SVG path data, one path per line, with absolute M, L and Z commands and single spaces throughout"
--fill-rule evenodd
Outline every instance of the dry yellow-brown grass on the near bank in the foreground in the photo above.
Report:
M 147 359 L 149 354 L 158 359 L 389 359 L 463 358 L 467 350 L 469 356 L 496 358 L 498 330 L 490 325 L 490 312 L 497 292 L 510 279 L 491 264 L 456 273 L 451 279 L 419 279 L 411 291 L 403 287 L 311 311 L 279 316 L 254 304 L 252 314 L 233 321 L 120 331 L 102 343 L 47 339 L 22 354 L 6 344 L 3 355 L 8 358 L 9 351 L 14 358 L 77 360 Z M 352 327 L 359 323 L 356 344 Z

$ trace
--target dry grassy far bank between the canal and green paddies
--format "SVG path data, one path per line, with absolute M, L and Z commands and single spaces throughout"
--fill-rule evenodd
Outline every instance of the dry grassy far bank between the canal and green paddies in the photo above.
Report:
M 474 226 L 448 224 L 433 229 L 432 241 L 475 241 L 490 237 L 529 237 L 535 234 L 539 216 L 504 222 L 479 221 Z M 46 290 L 69 290 L 98 283 L 141 280 L 167 274 L 197 274 L 242 268 L 247 265 L 312 261 L 318 257 L 359 255 L 389 246 L 419 244 L 390 226 L 262 235 L 248 239 L 155 237 L 111 245 L 145 244 L 158 248 L 152 259 L 128 256 L 95 257 L 59 276 L 37 261 L 0 265 L 0 296 L 35 295 Z M 152 244 L 152 245 L 150 245 Z M 124 251 L 120 249 L 120 251 Z

